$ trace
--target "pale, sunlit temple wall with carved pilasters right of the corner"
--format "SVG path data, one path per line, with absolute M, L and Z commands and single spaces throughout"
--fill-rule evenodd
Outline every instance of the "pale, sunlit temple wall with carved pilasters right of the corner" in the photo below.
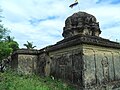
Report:
M 120 80 L 120 49 L 84 44 L 83 61 L 83 80 L 86 88 L 120 89 L 117 88 L 120 83 L 116 84 Z

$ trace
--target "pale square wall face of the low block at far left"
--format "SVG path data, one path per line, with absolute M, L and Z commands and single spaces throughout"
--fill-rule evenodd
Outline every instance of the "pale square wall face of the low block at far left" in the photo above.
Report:
M 18 72 L 24 74 L 36 73 L 36 55 L 18 55 Z

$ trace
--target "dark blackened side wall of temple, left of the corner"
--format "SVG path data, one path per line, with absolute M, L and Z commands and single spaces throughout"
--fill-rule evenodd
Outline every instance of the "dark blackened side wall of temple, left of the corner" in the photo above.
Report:
M 63 48 L 48 54 L 40 54 L 38 72 L 72 83 L 81 84 L 82 80 L 82 46 Z

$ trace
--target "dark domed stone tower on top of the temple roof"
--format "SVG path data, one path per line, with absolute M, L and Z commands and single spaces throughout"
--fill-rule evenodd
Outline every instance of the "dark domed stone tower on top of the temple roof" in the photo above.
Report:
M 62 35 L 67 38 L 77 34 L 99 36 L 100 33 L 99 23 L 93 15 L 78 12 L 66 19 Z

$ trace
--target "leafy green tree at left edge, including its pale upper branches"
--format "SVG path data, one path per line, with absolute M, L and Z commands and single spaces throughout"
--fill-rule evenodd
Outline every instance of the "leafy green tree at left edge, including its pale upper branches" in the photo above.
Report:
M 14 41 L 13 37 L 9 36 L 9 30 L 1 24 L 1 11 L 0 11 L 0 71 L 3 71 L 2 61 L 6 59 L 11 53 L 19 48 L 19 45 Z

